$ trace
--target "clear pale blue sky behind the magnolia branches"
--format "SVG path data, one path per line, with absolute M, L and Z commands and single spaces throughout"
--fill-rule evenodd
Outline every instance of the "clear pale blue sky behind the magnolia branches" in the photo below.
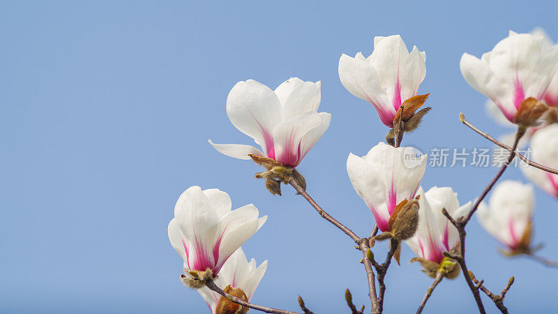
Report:
M 225 99 L 239 80 L 272 88 L 291 76 L 322 80 L 329 130 L 299 170 L 308 191 L 359 234 L 372 215 L 345 170 L 387 128 L 338 78 L 342 53 L 372 51 L 374 36 L 399 33 L 427 52 L 419 91 L 432 111 L 404 145 L 491 147 L 458 113 L 495 135 L 485 98 L 462 79 L 463 52 L 480 56 L 505 36 L 543 27 L 558 39 L 555 1 L 10 1 L 0 5 L 0 312 L 206 313 L 179 281 L 167 239 L 174 203 L 188 186 L 220 188 L 233 207 L 254 203 L 266 225 L 243 248 L 269 267 L 252 299 L 316 313 L 347 313 L 343 292 L 365 304 L 359 252 L 284 188 L 273 197 L 251 162 L 208 143 L 251 144 L 229 123 Z M 428 168 L 423 186 L 477 197 L 495 168 Z M 525 181 L 518 169 L 505 179 Z M 536 242 L 558 258 L 557 200 L 537 191 Z M 497 253 L 473 220 L 469 267 L 492 290 L 514 275 L 513 313 L 558 308 L 558 271 Z M 377 255 L 385 248 L 376 248 Z M 388 313 L 412 313 L 431 283 L 405 246 L 387 276 Z M 497 311 L 486 297 L 489 312 Z M 435 291 L 426 313 L 472 313 L 459 277 Z

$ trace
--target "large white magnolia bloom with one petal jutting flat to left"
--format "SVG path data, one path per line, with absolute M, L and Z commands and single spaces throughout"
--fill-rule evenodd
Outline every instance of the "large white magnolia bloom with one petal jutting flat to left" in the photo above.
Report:
M 236 83 L 227 97 L 229 120 L 265 154 L 250 145 L 209 143 L 234 158 L 250 159 L 254 154 L 296 167 L 329 127 L 331 114 L 317 112 L 320 85 L 296 77 L 275 91 L 255 80 Z

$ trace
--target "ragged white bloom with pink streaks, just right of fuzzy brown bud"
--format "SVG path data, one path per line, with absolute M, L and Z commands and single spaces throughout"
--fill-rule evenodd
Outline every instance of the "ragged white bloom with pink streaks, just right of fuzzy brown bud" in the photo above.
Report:
M 458 195 L 451 188 L 434 186 L 424 192 L 419 188 L 418 228 L 416 234 L 405 241 L 418 257 L 440 264 L 444 260 L 444 252 L 450 252 L 459 243 L 457 228 L 442 214 L 446 209 L 453 218 L 467 214 L 471 202 L 459 205 Z

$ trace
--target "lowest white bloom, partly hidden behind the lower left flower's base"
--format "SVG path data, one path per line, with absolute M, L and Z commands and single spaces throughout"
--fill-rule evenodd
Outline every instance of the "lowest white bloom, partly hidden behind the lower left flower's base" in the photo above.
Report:
M 259 281 L 262 280 L 266 273 L 266 268 L 267 260 L 256 267 L 256 260 L 252 258 L 248 262 L 244 251 L 242 251 L 242 248 L 239 248 L 225 262 L 214 282 L 221 289 L 225 289 L 227 285 L 231 285 L 232 288 L 241 289 L 246 294 L 246 297 L 248 297 L 248 301 L 250 301 Z M 211 313 L 215 314 L 221 295 L 210 290 L 208 287 L 202 287 L 196 291 L 204 298 L 207 306 L 211 309 Z

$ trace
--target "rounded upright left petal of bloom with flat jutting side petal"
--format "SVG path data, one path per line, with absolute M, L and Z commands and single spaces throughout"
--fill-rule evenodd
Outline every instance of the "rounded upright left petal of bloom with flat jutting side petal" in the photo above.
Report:
M 242 133 L 262 144 L 269 158 L 275 158 L 271 131 L 281 122 L 281 104 L 269 87 L 255 80 L 236 83 L 227 97 L 227 115 Z

